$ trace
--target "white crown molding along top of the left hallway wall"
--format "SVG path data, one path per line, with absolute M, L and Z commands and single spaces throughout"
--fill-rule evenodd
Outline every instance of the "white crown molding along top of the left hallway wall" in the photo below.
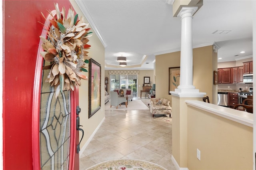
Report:
M 103 44 L 103 46 L 106 48 L 107 44 L 104 40 L 104 38 L 101 36 L 94 20 L 92 19 L 92 16 L 88 10 L 88 8 L 86 7 L 86 4 L 84 3 L 83 0 L 75 0 L 76 4 L 78 4 L 80 10 L 83 12 L 84 11 L 84 16 L 86 17 L 86 19 L 88 20 L 89 24 L 92 26 L 92 29 L 94 30 L 94 32 L 96 33 L 96 35 L 98 36 L 98 38 L 100 39 L 100 42 Z

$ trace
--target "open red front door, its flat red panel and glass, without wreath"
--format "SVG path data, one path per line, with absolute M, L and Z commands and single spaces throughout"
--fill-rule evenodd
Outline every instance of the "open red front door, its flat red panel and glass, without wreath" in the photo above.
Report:
M 78 170 L 79 157 L 76 152 L 78 89 L 65 91 L 66 101 L 62 101 L 64 95 L 60 94 L 58 99 L 55 99 L 54 96 L 52 100 L 48 100 L 51 101 L 51 107 L 46 105 L 46 101 L 43 100 L 46 93 L 44 93 L 44 89 L 41 91 L 41 83 L 45 81 L 42 80 L 43 58 L 37 56 L 38 46 L 40 47 L 38 45 L 39 36 L 42 34 L 42 29 L 45 29 L 40 24 L 40 22 L 45 22 L 41 12 L 47 16 L 46 10 L 53 10 L 54 3 L 58 3 L 61 7 L 65 6 L 66 9 L 70 8 L 71 4 L 69 1 L 63 0 L 4 0 L 2 3 L 4 19 L 3 168 L 4 170 L 38 170 L 41 168 L 41 162 L 46 162 L 45 165 L 49 164 L 50 162 L 46 161 L 45 156 L 47 156 L 46 151 L 49 152 L 51 149 L 43 148 L 43 145 L 40 145 L 40 139 L 42 139 L 50 142 L 52 146 L 58 145 L 60 148 L 52 149 L 53 152 L 50 152 L 50 155 L 54 155 L 50 160 L 58 162 L 54 163 L 52 168 L 65 167 L 67 159 L 62 155 L 68 155 L 69 169 Z M 63 103 L 70 105 L 65 106 Z M 52 118 L 44 117 L 42 114 L 44 109 L 50 108 L 52 111 L 53 106 L 56 109 L 60 108 L 61 111 L 54 113 Z M 44 112 L 44 114 L 46 113 L 47 111 Z M 47 125 L 46 120 L 50 120 Z M 61 123 L 63 125 L 65 121 L 70 123 L 70 127 L 66 126 L 65 130 L 62 128 L 61 132 L 66 132 L 63 135 L 66 138 L 63 138 L 58 129 L 61 129 L 59 125 Z M 43 129 L 44 126 L 46 128 Z M 68 133 L 70 137 L 68 137 Z M 49 135 L 47 136 L 47 134 Z M 61 143 L 63 144 L 59 145 Z M 65 149 L 68 148 L 66 147 L 67 143 L 69 143 L 69 150 Z M 55 167 L 55 165 L 57 166 Z

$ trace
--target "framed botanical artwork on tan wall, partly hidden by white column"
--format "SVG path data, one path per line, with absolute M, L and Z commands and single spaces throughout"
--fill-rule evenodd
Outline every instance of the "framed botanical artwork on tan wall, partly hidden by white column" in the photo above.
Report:
M 180 85 L 180 67 L 169 67 L 169 92 L 174 91 Z

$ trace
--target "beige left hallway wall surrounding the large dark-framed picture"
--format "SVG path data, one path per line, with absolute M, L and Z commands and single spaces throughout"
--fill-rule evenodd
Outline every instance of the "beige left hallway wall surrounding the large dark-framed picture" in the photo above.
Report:
M 82 16 L 82 11 L 77 6 L 76 2 L 71 0 L 70 3 L 72 4 L 76 13 Z M 85 17 L 84 17 L 85 18 Z M 85 21 L 88 23 L 88 21 Z M 89 26 L 89 28 L 91 28 Z M 94 30 L 92 30 L 94 32 Z M 100 42 L 97 35 L 94 33 L 92 37 L 89 38 L 89 44 L 91 45 L 90 49 L 88 49 L 88 55 L 92 57 L 95 61 L 100 63 L 101 65 L 101 82 L 105 82 L 104 80 L 104 65 L 105 65 L 105 48 Z M 87 75 L 88 76 L 88 75 Z M 101 109 L 98 110 L 90 119 L 88 119 L 88 80 L 82 80 L 82 85 L 79 87 L 79 106 L 81 108 L 80 116 L 80 125 L 84 130 L 84 138 L 80 144 L 80 148 L 86 144 L 90 136 L 94 133 L 102 119 L 105 117 L 105 105 L 104 105 L 104 83 L 101 83 Z M 80 134 L 81 138 L 81 134 Z

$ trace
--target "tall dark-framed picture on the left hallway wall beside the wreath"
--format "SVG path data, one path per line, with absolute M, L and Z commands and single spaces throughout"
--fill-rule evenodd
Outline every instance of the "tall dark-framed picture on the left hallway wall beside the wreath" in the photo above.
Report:
M 89 59 L 89 113 L 92 117 L 100 109 L 101 66 L 94 59 Z

